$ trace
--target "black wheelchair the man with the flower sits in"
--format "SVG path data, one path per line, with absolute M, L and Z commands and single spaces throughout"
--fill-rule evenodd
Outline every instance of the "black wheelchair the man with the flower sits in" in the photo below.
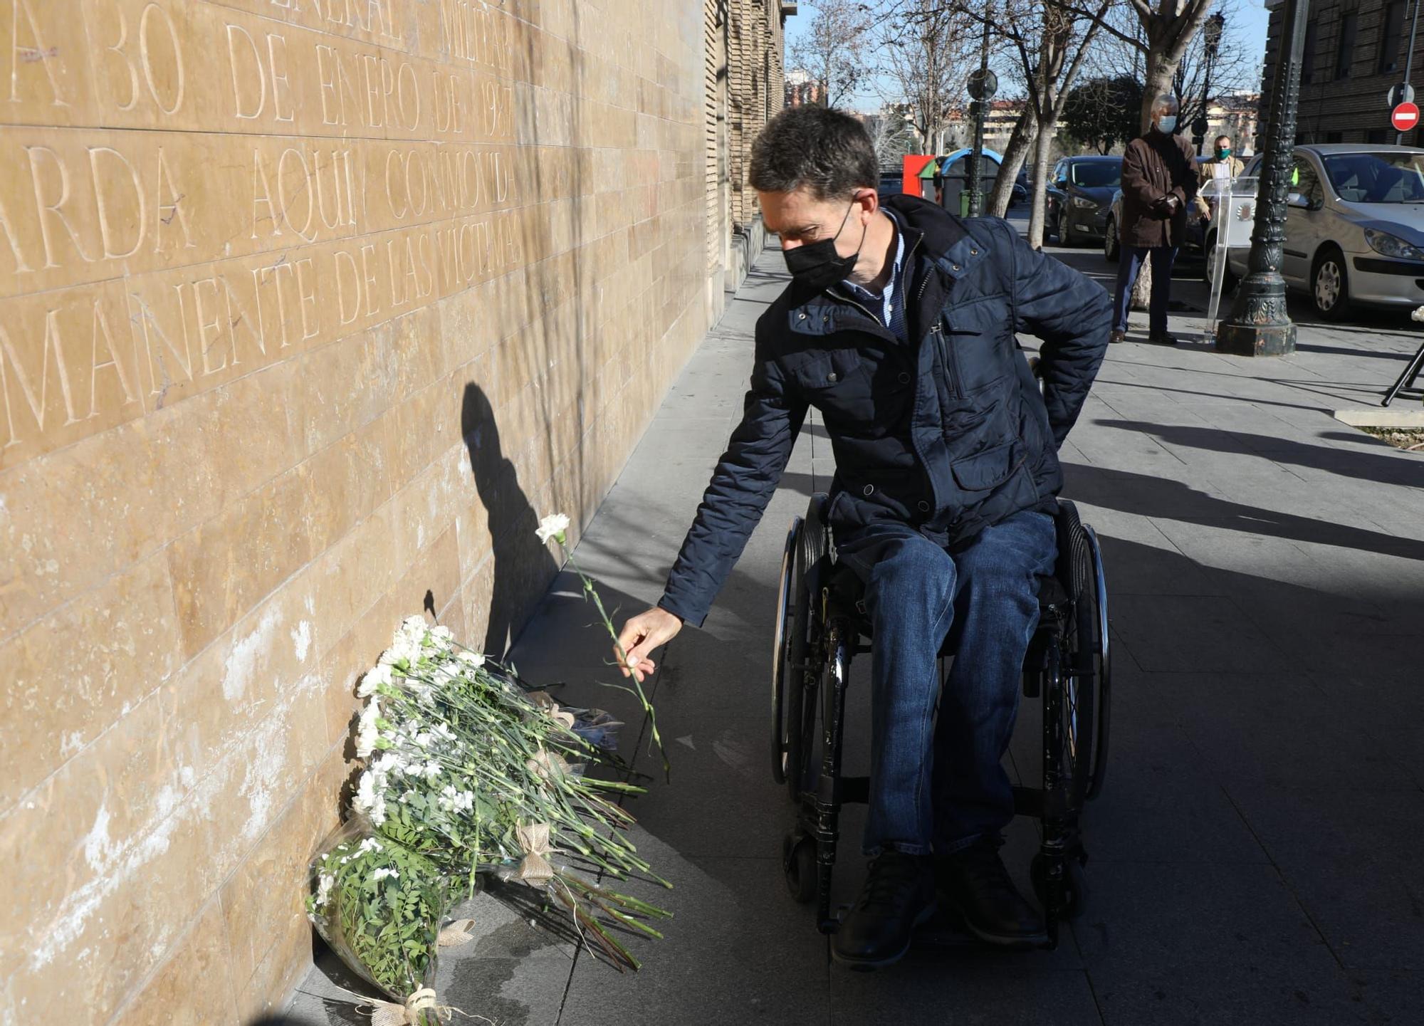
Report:
M 797 902 L 817 901 L 823 933 L 840 925 L 830 908 L 840 809 L 869 799 L 867 777 L 842 775 L 850 663 L 869 653 L 870 621 L 863 583 L 836 561 L 826 524 L 827 496 L 812 497 L 786 534 L 776 606 L 772 668 L 772 775 L 787 785 L 796 826 L 782 844 L 786 885 Z M 1042 905 L 1048 948 L 1058 925 L 1084 911 L 1084 865 L 1078 826 L 1084 804 L 1098 795 L 1106 770 L 1111 661 L 1108 596 L 1098 537 L 1071 502 L 1058 500 L 1058 560 L 1040 579 L 1038 627 L 1022 668 L 1022 694 L 1042 701 L 1040 787 L 1015 787 L 1017 815 L 1040 821 L 1040 848 L 1030 878 Z M 940 680 L 946 658 L 940 653 Z

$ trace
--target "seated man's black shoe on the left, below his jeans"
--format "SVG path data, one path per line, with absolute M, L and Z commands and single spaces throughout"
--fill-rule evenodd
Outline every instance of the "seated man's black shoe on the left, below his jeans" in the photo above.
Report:
M 832 956 L 852 969 L 880 969 L 910 950 L 910 933 L 934 915 L 934 878 L 926 855 L 881 852 L 840 925 Z

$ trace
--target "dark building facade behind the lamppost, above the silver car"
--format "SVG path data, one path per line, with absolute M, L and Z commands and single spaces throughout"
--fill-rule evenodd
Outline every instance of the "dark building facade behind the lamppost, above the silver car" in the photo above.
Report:
M 1283 0 L 1266 0 L 1260 131 L 1270 111 L 1270 87 L 1284 21 Z M 1404 81 L 1411 10 L 1407 0 L 1321 0 L 1310 6 L 1302 56 L 1296 142 L 1394 142 L 1386 93 Z M 1424 73 L 1415 46 L 1414 74 Z M 1263 137 L 1257 135 L 1259 150 Z M 1404 135 L 1418 145 L 1415 128 Z

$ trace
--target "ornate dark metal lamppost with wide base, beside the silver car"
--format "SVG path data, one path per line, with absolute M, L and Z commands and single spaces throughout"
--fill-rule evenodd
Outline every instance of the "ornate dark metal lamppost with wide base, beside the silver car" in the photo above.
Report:
M 1250 234 L 1246 276 L 1232 312 L 1216 329 L 1216 348 L 1237 356 L 1284 356 L 1296 351 L 1296 325 L 1286 311 L 1286 279 L 1280 275 L 1286 244 L 1286 195 L 1294 162 L 1296 103 L 1300 98 L 1300 56 L 1310 0 L 1284 0 L 1280 56 L 1270 86 L 1266 145 L 1256 188 L 1256 222 Z

